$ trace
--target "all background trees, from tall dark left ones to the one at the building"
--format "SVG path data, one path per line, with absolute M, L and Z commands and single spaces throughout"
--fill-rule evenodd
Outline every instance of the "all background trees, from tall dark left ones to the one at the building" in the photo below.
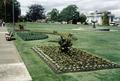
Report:
M 62 11 L 53 8 L 50 12 L 46 13 L 45 8 L 39 4 L 29 6 L 29 10 L 25 16 L 21 16 L 20 3 L 17 0 L 0 0 L 0 19 L 5 22 L 13 21 L 13 4 L 14 4 L 14 20 L 17 21 L 30 21 L 30 22 L 60 22 L 63 21 L 67 24 L 87 24 L 87 17 L 85 14 L 78 11 L 76 5 L 68 5 Z M 108 13 L 104 13 L 103 24 L 108 24 Z

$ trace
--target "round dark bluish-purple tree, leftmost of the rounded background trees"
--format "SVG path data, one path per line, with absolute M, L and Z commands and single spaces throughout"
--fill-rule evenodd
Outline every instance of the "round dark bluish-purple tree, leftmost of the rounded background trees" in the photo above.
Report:
M 38 19 L 44 19 L 45 13 L 42 5 L 33 4 L 29 7 L 29 12 L 27 12 L 27 19 L 30 21 L 36 21 Z

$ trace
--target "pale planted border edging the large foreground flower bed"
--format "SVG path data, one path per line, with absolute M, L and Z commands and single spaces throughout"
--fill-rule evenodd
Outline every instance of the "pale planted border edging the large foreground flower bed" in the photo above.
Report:
M 97 65 L 98 68 L 92 68 L 92 67 L 87 67 L 87 66 L 85 66 L 85 68 L 84 67 L 83 68 L 80 68 L 80 67 L 73 67 L 73 68 L 61 67 L 55 61 L 53 61 L 48 55 L 44 54 L 44 52 L 42 50 L 38 49 L 38 47 L 32 47 L 32 49 L 40 56 L 40 58 L 42 58 L 47 63 L 48 66 L 51 67 L 51 69 L 55 73 L 87 72 L 87 71 L 120 68 L 120 65 L 118 65 L 114 62 L 111 62 L 109 60 L 103 59 L 103 58 L 102 58 L 103 60 L 106 60 L 107 62 L 112 63 L 112 65 L 111 66 L 104 65 L 104 68 L 102 68 L 103 66 L 101 66 L 101 65 Z M 86 52 L 86 51 L 83 51 L 83 52 Z M 90 54 L 90 53 L 88 53 L 88 54 Z M 93 56 L 98 57 L 96 55 L 93 55 Z

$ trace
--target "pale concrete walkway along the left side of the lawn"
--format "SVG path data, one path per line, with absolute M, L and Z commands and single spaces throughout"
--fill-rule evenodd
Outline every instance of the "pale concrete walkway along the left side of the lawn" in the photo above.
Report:
M 6 32 L 0 27 L 0 81 L 32 81 L 14 42 L 5 40 Z

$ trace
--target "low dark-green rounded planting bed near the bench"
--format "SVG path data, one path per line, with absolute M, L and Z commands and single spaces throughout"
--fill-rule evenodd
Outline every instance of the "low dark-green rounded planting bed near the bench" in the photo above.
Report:
M 46 34 L 30 31 L 17 32 L 17 35 L 21 37 L 24 41 L 41 40 L 48 38 L 48 35 Z

